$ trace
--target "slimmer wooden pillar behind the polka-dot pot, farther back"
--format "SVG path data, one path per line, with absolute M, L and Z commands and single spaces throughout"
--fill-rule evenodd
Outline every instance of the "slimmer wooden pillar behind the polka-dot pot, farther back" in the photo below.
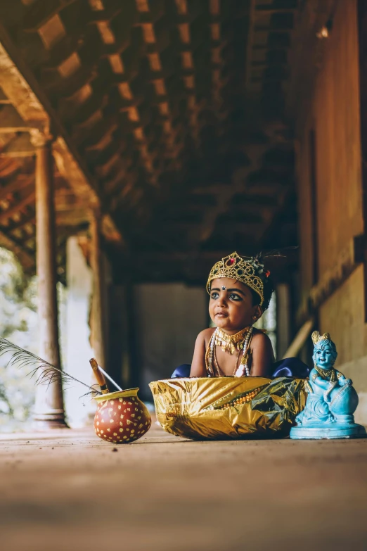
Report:
M 91 308 L 91 347 L 98 364 L 106 368 L 105 350 L 105 273 L 101 251 L 101 215 L 98 210 L 91 213 L 91 268 L 93 272 L 93 296 Z

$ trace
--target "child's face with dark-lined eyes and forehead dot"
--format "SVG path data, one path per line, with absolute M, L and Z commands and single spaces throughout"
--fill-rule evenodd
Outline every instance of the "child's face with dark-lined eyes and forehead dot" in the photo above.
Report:
M 212 322 L 228 333 L 236 333 L 256 322 L 262 315 L 259 305 L 252 305 L 250 288 L 236 279 L 213 279 L 209 313 Z

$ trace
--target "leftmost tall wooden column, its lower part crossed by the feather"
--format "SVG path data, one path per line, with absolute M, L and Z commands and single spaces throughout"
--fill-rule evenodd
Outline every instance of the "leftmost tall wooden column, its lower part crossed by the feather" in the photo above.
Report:
M 36 245 L 38 277 L 39 355 L 60 367 L 56 291 L 55 207 L 51 136 L 32 135 L 36 147 Z M 65 427 L 60 378 L 37 386 L 34 423 L 38 429 Z

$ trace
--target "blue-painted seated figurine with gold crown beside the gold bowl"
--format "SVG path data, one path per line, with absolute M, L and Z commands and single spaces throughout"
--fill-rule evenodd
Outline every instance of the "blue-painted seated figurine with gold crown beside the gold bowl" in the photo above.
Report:
M 354 423 L 358 394 L 347 379 L 335 369 L 335 344 L 328 333 L 312 334 L 314 369 L 306 381 L 307 402 L 297 415 L 297 426 L 290 438 L 363 438 L 366 429 Z

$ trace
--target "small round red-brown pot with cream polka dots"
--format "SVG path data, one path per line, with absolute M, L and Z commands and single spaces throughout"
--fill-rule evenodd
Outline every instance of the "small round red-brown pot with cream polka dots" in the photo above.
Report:
M 111 444 L 127 444 L 141 438 L 152 419 L 138 398 L 139 388 L 110 392 L 95 398 L 98 407 L 94 416 L 96 435 Z

